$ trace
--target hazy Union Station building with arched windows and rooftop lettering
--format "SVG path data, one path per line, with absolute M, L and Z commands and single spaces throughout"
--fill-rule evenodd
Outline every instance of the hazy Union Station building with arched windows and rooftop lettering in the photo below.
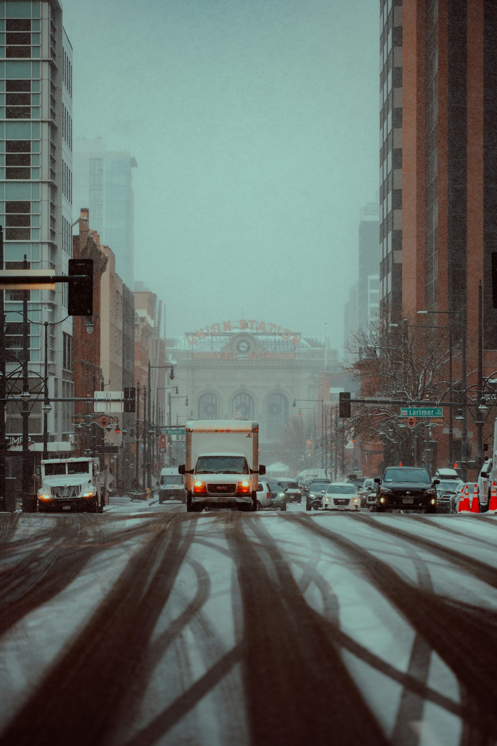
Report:
M 166 420 L 252 419 L 259 422 L 263 445 L 278 439 L 298 410 L 314 410 L 320 421 L 320 400 L 330 399 L 323 374 L 338 372 L 338 352 L 325 339 L 253 319 L 166 339 L 166 357 L 174 363 Z

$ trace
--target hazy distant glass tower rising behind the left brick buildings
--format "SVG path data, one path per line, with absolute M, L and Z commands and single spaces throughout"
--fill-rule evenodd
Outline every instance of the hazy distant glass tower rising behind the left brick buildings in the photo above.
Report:
M 133 288 L 134 192 L 130 153 L 107 151 L 104 140 L 75 140 L 74 219 L 89 208 L 89 225 L 115 254 L 116 272 Z

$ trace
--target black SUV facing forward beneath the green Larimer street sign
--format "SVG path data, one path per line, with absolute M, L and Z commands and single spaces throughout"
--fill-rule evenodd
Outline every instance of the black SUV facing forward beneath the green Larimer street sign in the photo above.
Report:
M 437 513 L 439 480 L 432 480 L 425 468 L 417 466 L 387 466 L 383 477 L 376 477 L 376 510 L 400 508 Z

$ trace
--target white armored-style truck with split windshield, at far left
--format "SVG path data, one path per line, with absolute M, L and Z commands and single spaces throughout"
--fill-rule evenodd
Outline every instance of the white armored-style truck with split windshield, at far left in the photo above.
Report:
M 42 459 L 39 513 L 84 510 L 104 512 L 98 458 Z

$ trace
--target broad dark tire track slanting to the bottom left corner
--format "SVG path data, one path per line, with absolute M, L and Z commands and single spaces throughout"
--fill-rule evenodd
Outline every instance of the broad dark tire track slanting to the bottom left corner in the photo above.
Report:
M 110 742 L 127 692 L 141 698 L 134 674 L 194 536 L 193 523 L 183 536 L 181 518 L 149 526 L 107 598 L 7 724 L 2 746 L 70 744 L 82 733 L 92 746 Z

